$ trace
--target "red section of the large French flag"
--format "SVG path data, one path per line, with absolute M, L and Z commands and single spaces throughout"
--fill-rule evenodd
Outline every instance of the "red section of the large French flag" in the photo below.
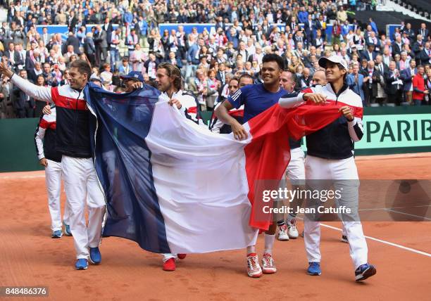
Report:
M 262 180 L 281 180 L 290 160 L 289 137 L 294 140 L 311 134 L 341 117 L 339 108 L 346 105 L 327 101 L 323 105 L 304 104 L 284 109 L 273 105 L 249 120 L 253 139 L 244 148 L 246 174 L 249 183 L 249 200 L 252 204 L 250 226 L 268 230 L 269 214 L 263 214 Z M 354 115 L 362 118 L 363 109 L 352 107 Z M 276 187 L 274 187 L 275 189 Z M 265 187 L 265 189 L 270 189 Z M 255 199 L 256 198 L 256 199 Z

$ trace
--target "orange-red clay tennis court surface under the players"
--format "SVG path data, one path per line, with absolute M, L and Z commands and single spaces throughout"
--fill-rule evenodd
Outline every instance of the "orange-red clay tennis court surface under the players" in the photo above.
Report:
M 357 165 L 361 179 L 431 179 L 431 154 Z M 364 222 L 377 275 L 363 283 L 354 281 L 339 222 L 322 228 L 322 276 L 306 275 L 298 238 L 275 241 L 277 274 L 255 279 L 246 276 L 245 250 L 188 255 L 165 272 L 161 255 L 120 238 L 104 238 L 101 265 L 75 271 L 73 238 L 50 236 L 44 172 L 0 174 L 0 204 L 0 286 L 47 286 L 49 300 L 430 300 L 431 222 Z

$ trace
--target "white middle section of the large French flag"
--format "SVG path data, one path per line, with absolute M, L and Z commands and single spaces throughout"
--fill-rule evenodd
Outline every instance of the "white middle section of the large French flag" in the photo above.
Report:
M 171 252 L 254 245 L 244 155 L 251 135 L 236 141 L 209 132 L 165 102 L 156 103 L 153 120 L 145 141 Z

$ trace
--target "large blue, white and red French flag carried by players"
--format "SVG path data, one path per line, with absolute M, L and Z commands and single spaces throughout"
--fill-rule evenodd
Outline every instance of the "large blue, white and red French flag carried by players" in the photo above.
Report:
M 249 120 L 248 138 L 215 134 L 187 120 L 158 90 L 113 94 L 85 88 L 97 115 L 94 162 L 104 190 L 104 236 L 136 241 L 158 253 L 232 250 L 254 245 L 268 229 L 256 191 L 280 180 L 289 137 L 299 139 L 336 120 L 342 105 L 273 105 Z

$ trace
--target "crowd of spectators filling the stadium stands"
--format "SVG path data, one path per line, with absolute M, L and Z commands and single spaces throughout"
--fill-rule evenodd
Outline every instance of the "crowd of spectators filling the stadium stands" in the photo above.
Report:
M 83 58 L 92 81 L 124 91 L 122 75 L 142 72 L 155 85 L 161 62 L 177 65 L 185 89 L 204 110 L 229 94 L 233 77 L 255 82 L 266 53 L 282 56 L 295 75 L 295 89 L 311 85 L 318 59 L 332 53 L 349 63 L 347 82 L 363 105 L 427 105 L 431 91 L 431 39 L 420 28 L 401 24 L 387 37 L 370 19 L 365 28 L 348 11 L 375 1 L 187 0 L 187 1 L 1 1 L 7 22 L 0 28 L 2 60 L 39 86 L 68 83 L 68 66 Z M 159 32 L 161 23 L 212 23 L 186 33 Z M 44 25 L 67 25 L 68 36 L 48 34 Z M 92 25 L 86 27 L 86 25 Z M 300 25 L 301 24 L 301 25 Z M 327 25 L 332 34 L 327 36 Z M 39 33 L 36 26 L 42 26 Z M 117 26 L 118 25 L 118 26 Z M 0 117 L 37 117 L 43 103 L 0 79 Z

